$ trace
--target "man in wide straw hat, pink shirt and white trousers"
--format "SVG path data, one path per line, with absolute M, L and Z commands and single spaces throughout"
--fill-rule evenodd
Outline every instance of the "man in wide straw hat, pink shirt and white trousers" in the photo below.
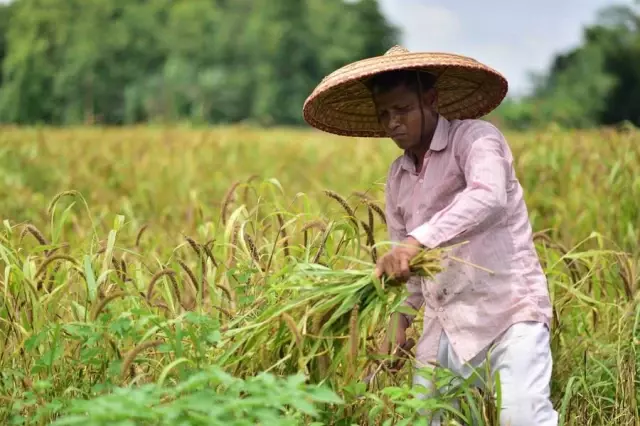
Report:
M 504 77 L 473 59 L 396 46 L 327 76 L 303 115 L 323 131 L 389 137 L 403 150 L 385 187 L 396 244 L 376 274 L 406 281 L 406 304 L 424 307 L 416 368 L 435 365 L 467 378 L 489 362 L 494 377 L 500 374 L 501 424 L 555 426 L 547 281 L 510 148 L 478 119 L 506 93 Z M 421 250 L 454 245 L 456 259 L 445 260 L 434 280 L 410 275 L 409 262 Z M 391 319 L 386 354 L 389 336 L 401 346 L 413 319 Z M 425 396 L 438 391 L 421 375 L 414 383 Z M 431 414 L 439 425 L 438 413 Z

